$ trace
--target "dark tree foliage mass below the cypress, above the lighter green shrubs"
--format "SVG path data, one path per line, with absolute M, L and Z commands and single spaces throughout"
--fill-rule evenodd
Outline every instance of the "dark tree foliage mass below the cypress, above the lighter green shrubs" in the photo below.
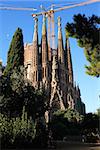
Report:
M 0 80 L 1 112 L 10 117 L 20 116 L 25 105 L 28 116 L 33 119 L 44 116 L 46 110 L 46 94 L 43 90 L 35 90 L 29 81 L 25 80 L 24 68 L 13 70 L 9 76 Z

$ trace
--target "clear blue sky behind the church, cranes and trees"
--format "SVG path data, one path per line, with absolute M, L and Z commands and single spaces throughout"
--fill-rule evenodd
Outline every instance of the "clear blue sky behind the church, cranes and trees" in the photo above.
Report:
M 0 6 L 12 6 L 12 7 L 33 7 L 37 11 L 11 11 L 0 10 L 0 58 L 3 60 L 3 64 L 6 64 L 7 51 L 12 39 L 12 36 L 17 27 L 22 28 L 24 35 L 24 43 L 31 43 L 33 36 L 34 20 L 31 17 L 32 13 L 40 12 L 40 5 L 45 8 L 51 4 L 67 4 L 68 2 L 82 2 L 85 0 L 0 0 Z M 55 7 L 57 8 L 57 7 Z M 57 38 L 57 17 L 62 18 L 63 35 L 65 33 L 65 25 L 67 22 L 73 21 L 73 15 L 81 13 L 86 16 L 92 14 L 100 15 L 100 3 L 93 3 L 87 6 L 76 7 L 64 11 L 57 12 L 55 14 L 55 33 Z M 41 24 L 42 17 L 39 17 L 39 37 L 41 40 Z M 81 28 L 81 27 L 80 27 Z M 65 37 L 64 37 L 65 40 Z M 85 59 L 83 49 L 77 46 L 75 39 L 70 38 L 74 80 L 79 84 L 81 90 L 81 97 L 86 104 L 87 112 L 95 112 L 100 107 L 100 78 L 91 77 L 85 74 L 84 65 L 88 64 Z

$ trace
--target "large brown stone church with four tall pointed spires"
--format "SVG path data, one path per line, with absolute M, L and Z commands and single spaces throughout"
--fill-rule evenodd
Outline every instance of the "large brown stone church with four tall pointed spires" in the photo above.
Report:
M 53 50 L 47 37 L 46 16 L 43 15 L 41 43 L 38 40 L 38 19 L 35 18 L 32 43 L 24 46 L 26 77 L 37 88 L 45 88 L 52 111 L 72 108 L 85 113 L 80 89 L 75 85 L 69 39 L 63 43 L 61 18 L 58 17 L 57 49 Z

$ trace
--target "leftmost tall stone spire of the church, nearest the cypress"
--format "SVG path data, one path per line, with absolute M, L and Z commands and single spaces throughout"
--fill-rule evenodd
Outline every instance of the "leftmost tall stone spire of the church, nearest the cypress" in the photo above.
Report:
M 38 63 L 39 63 L 39 45 L 38 45 L 38 19 L 35 18 L 33 35 L 33 86 L 38 88 Z

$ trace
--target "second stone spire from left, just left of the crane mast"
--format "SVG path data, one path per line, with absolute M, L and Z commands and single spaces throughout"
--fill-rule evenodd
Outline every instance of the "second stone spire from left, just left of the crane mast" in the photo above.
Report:
M 42 81 L 44 86 L 48 87 L 49 81 L 49 64 L 48 64 L 48 43 L 47 43 L 47 31 L 46 31 L 46 16 L 43 15 L 42 25 Z

